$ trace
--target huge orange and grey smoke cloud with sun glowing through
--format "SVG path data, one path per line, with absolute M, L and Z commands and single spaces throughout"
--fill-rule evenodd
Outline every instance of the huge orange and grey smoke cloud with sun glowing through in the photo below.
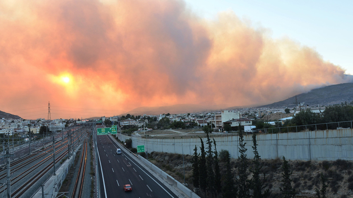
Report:
M 269 104 L 345 71 L 231 11 L 173 0 L 0 1 L 0 110 L 25 119 L 140 106 Z

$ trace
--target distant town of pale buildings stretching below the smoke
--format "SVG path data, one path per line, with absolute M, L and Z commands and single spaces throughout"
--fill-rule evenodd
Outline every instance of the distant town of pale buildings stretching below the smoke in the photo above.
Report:
M 31 134 L 42 134 L 43 130 L 58 132 L 70 125 L 80 125 L 84 123 L 104 123 L 105 125 L 118 125 L 119 130 L 134 129 L 134 130 L 155 130 L 169 128 L 169 125 L 162 127 L 157 123 L 161 120 L 166 120 L 171 123 L 177 123 L 176 128 L 202 128 L 209 125 L 213 131 L 226 131 L 225 126 L 231 128 L 237 127 L 239 124 L 245 127 L 245 130 L 251 130 L 256 126 L 253 125 L 254 120 L 263 120 L 265 124 L 275 125 L 278 122 L 282 124 L 286 120 L 293 118 L 296 113 L 310 109 L 311 112 L 322 115 L 325 111 L 325 106 L 309 107 L 304 103 L 298 104 L 294 109 L 288 108 L 244 108 L 236 110 L 220 110 L 211 112 L 197 113 L 180 113 L 180 114 L 160 114 L 160 115 L 130 115 L 100 117 L 96 119 L 54 119 L 48 120 L 38 118 L 35 120 L 26 119 L 0 119 L 0 134 L 20 134 L 26 136 L 29 131 Z M 279 116 L 273 116 L 279 115 Z M 270 119 L 269 119 L 270 118 Z M 167 123 L 168 124 L 168 123 Z M 42 132 L 41 132 L 42 130 Z M 228 130 L 227 130 L 228 131 Z M 44 131 L 46 132 L 46 131 Z

